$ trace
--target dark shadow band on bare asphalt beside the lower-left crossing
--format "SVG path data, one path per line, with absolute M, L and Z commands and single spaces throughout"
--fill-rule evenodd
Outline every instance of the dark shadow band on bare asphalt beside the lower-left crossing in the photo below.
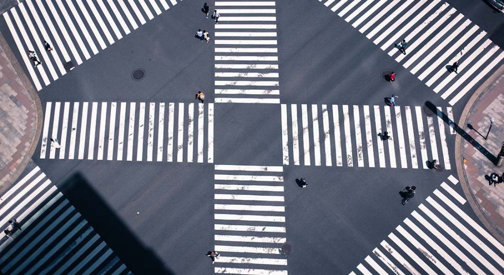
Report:
M 60 190 L 134 274 L 174 274 L 141 243 L 83 175 L 74 174 Z

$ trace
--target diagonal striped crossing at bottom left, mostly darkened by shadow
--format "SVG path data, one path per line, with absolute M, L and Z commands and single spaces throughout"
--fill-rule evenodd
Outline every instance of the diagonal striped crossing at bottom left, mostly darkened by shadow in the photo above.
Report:
M 0 239 L 3 274 L 131 274 L 38 166 L 0 197 L 0 208 L 3 228 L 12 219 L 21 227 Z

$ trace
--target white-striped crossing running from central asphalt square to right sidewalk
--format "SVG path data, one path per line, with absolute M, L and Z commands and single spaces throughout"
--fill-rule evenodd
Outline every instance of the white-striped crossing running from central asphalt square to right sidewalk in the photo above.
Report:
M 451 169 L 451 107 L 281 104 L 284 165 Z M 443 113 L 449 117 L 445 126 Z M 382 141 L 384 131 L 391 137 Z

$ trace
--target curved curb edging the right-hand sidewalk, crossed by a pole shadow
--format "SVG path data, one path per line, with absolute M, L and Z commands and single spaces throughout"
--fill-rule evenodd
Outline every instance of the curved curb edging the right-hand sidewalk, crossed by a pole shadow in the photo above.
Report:
M 469 101 L 467 102 L 466 106 L 464 107 L 464 110 L 462 111 L 462 114 L 460 115 L 460 120 L 459 120 L 459 127 L 464 129 L 464 125 L 467 124 L 469 114 L 471 113 L 472 109 L 476 105 L 476 102 L 479 101 L 480 98 L 482 98 L 486 92 L 488 92 L 490 89 L 493 88 L 492 83 L 494 83 L 497 79 L 499 79 L 502 75 L 504 75 L 504 65 L 501 65 L 497 71 L 491 75 L 485 83 L 483 83 L 478 90 L 471 96 Z M 463 146 L 462 146 L 462 136 L 457 134 L 455 136 L 455 164 L 457 165 L 457 174 L 459 176 L 459 181 L 460 185 L 462 186 L 462 190 L 464 191 L 464 194 L 467 198 L 467 201 L 469 202 L 469 205 L 471 205 L 471 208 L 473 209 L 474 213 L 476 216 L 479 218 L 481 223 L 485 226 L 485 228 L 490 232 L 495 239 L 497 239 L 500 243 L 504 243 L 504 234 L 502 234 L 495 226 L 492 225 L 492 223 L 488 220 L 487 216 L 483 213 L 483 210 L 480 208 L 480 205 L 477 201 L 477 198 L 471 191 L 469 187 L 469 183 L 467 180 L 466 176 L 466 170 L 464 169 L 464 163 L 463 163 L 463 157 L 462 157 L 462 151 L 463 151 Z

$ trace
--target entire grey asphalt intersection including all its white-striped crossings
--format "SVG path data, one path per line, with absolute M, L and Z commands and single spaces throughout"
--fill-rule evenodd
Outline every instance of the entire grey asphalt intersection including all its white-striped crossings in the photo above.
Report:
M 504 273 L 455 148 L 469 98 L 502 67 L 488 27 L 501 15 L 218 1 L 215 24 L 202 4 L 30 0 L 3 14 L 43 110 L 32 161 L 0 202 L 3 224 L 26 226 L 1 240 L 3 273 Z M 407 185 L 417 192 L 401 205 Z

